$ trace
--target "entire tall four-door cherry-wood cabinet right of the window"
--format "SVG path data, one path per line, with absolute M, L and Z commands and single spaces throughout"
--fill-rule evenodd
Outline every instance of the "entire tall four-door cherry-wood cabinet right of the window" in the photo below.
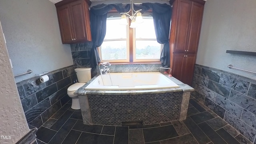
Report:
M 175 0 L 170 32 L 172 75 L 192 84 L 198 48 L 204 0 Z

